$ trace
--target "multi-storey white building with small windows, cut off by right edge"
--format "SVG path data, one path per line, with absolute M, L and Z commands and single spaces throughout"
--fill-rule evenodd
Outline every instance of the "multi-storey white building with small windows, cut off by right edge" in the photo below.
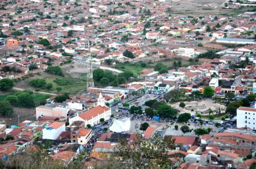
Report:
M 256 130 L 256 108 L 239 107 L 236 110 L 236 127 Z

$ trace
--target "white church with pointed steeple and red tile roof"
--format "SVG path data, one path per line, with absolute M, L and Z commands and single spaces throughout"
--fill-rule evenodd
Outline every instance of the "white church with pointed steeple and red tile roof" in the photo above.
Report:
M 100 123 L 101 118 L 104 118 L 105 121 L 107 121 L 110 119 L 110 116 L 111 108 L 105 106 L 105 99 L 100 93 L 100 96 L 98 97 L 98 106 L 70 118 L 70 124 L 74 121 L 83 121 L 85 122 L 85 126 L 87 124 L 94 126 Z

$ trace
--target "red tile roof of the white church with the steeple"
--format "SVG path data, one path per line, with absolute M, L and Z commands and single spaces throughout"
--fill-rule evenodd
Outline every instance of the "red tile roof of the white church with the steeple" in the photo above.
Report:
M 98 114 L 103 114 L 103 112 L 108 111 L 108 110 L 109 110 L 108 107 L 97 106 L 97 107 L 94 107 L 90 110 L 83 112 L 82 114 L 79 115 L 79 117 L 88 121 L 94 117 L 97 117 Z

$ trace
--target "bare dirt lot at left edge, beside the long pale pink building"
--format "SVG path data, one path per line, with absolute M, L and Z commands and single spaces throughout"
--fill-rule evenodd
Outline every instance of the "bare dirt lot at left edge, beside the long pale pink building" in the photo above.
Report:
M 5 121 L 6 125 L 17 125 L 20 122 L 25 120 L 35 121 L 35 108 L 20 108 L 14 107 L 14 113 L 10 117 L 0 116 L 0 121 Z

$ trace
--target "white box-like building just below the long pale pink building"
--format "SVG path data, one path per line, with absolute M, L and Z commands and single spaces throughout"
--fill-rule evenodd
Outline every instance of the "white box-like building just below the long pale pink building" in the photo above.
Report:
M 43 129 L 43 139 L 56 140 L 62 132 L 65 132 L 64 122 L 53 122 Z

